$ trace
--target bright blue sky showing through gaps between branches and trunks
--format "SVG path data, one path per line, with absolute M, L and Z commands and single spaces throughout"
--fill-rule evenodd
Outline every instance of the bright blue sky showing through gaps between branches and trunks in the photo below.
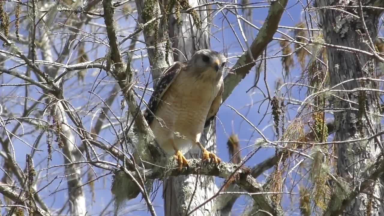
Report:
M 260 2 L 260 1 L 250 1 L 250 2 Z M 257 4 L 258 6 L 259 4 Z M 266 3 L 260 4 L 260 5 L 267 5 Z M 298 23 L 301 19 L 301 10 L 303 9 L 300 3 L 298 2 L 289 2 L 287 6 L 287 13 L 284 13 L 280 25 L 285 25 L 285 26 L 294 26 L 296 23 Z M 239 10 L 241 13 L 241 10 Z M 253 20 L 250 20 L 254 25 L 257 25 L 258 27 L 262 26 L 263 20 L 265 19 L 266 15 L 268 13 L 268 8 L 256 8 L 253 9 Z M 289 13 L 289 15 L 288 15 Z M 215 37 L 219 38 L 220 41 L 215 40 L 214 38 L 211 38 L 211 45 L 212 49 L 222 52 L 223 47 L 225 47 L 228 50 L 228 57 L 231 56 L 238 56 L 242 54 L 242 50 L 240 48 L 240 45 L 238 44 L 237 40 L 235 40 L 235 37 L 233 37 L 233 32 L 230 28 L 228 28 L 228 23 L 227 22 L 222 22 L 222 15 L 219 14 L 214 20 L 215 25 L 218 25 L 219 27 L 222 27 L 223 25 L 223 32 L 220 30 L 215 34 Z M 243 39 L 241 38 L 240 30 L 237 26 L 237 22 L 235 20 L 235 17 L 231 14 L 227 14 L 228 20 L 232 23 L 233 27 L 235 28 L 235 31 L 237 35 L 240 37 L 240 40 L 242 41 L 242 45 L 246 47 Z M 124 18 L 119 20 L 119 28 L 121 29 L 121 34 L 122 35 L 128 35 L 129 33 L 132 32 L 132 28 L 127 28 L 124 29 L 126 25 L 134 27 L 134 23 L 131 22 L 132 20 L 125 20 Z M 59 20 L 58 22 L 63 22 L 63 20 Z M 104 20 L 103 18 L 99 18 L 98 20 L 95 20 L 93 22 L 97 23 L 103 23 Z M 254 30 L 252 28 L 248 28 L 250 32 L 248 32 L 248 43 L 252 43 L 252 38 L 255 38 L 257 35 L 257 30 Z M 279 29 L 285 33 L 288 33 L 286 29 Z M 102 32 L 104 31 L 103 28 L 98 29 L 96 32 Z M 217 29 L 212 29 L 212 32 L 216 32 Z M 291 33 L 289 33 L 292 35 Z M 98 37 L 105 38 L 105 35 L 102 34 L 96 34 Z M 225 37 L 223 38 L 223 35 Z M 281 35 L 276 33 L 275 37 L 280 37 Z M 58 35 L 57 37 L 67 37 L 63 35 Z M 142 39 L 142 37 L 140 38 Z M 130 41 L 128 40 L 127 42 L 124 43 L 124 45 L 121 46 L 122 50 L 126 49 L 129 46 Z M 144 48 L 145 45 L 142 43 L 137 43 L 136 47 L 138 48 Z M 92 44 L 87 43 L 86 50 L 89 50 L 89 57 L 91 60 L 94 60 L 96 58 L 103 57 L 105 55 L 105 49 L 103 52 L 103 49 L 99 49 L 98 52 L 94 52 L 92 50 Z M 276 41 L 273 41 L 270 43 L 268 46 L 268 55 L 276 53 L 280 47 L 278 46 L 278 43 Z M 74 55 L 76 55 L 77 51 L 75 51 Z M 145 54 L 145 50 L 141 52 L 142 54 Z M 140 52 L 136 52 L 135 54 L 140 55 Z M 279 54 L 280 55 L 280 54 Z M 72 59 L 73 60 L 73 59 Z M 230 62 L 235 63 L 236 58 L 231 58 Z M 227 63 L 228 67 L 232 67 L 232 64 Z M 300 65 L 295 62 L 296 68 L 300 69 Z M 149 74 L 149 68 L 148 68 L 148 61 L 145 59 L 143 61 L 143 66 L 141 66 L 141 61 L 135 61 L 134 63 L 135 69 L 139 70 L 139 73 L 143 72 L 146 70 L 146 75 Z M 41 66 L 42 68 L 42 66 Z M 20 70 L 24 72 L 25 70 Z M 63 69 L 60 69 L 59 73 L 61 73 Z M 98 84 L 99 81 L 96 80 L 96 77 L 94 75 L 91 75 L 92 73 L 98 73 L 98 70 L 89 70 L 85 79 L 85 85 L 86 88 L 76 88 L 78 86 L 78 81 L 76 79 L 76 76 L 74 78 L 71 78 L 65 82 L 65 89 L 67 90 L 65 92 L 65 97 L 67 100 L 70 100 L 71 103 L 75 107 L 82 107 L 84 109 L 84 104 L 88 103 L 90 100 L 98 100 L 97 98 L 93 96 L 89 96 L 88 93 L 85 93 L 86 91 L 94 91 L 95 93 L 98 93 L 102 98 L 107 98 L 109 95 L 110 90 L 113 88 L 113 83 L 107 83 L 107 82 L 100 82 L 97 88 L 93 88 L 93 85 Z M 278 78 L 281 78 L 285 72 L 282 71 L 281 67 L 281 59 L 280 58 L 272 58 L 267 61 L 267 66 L 266 66 L 266 82 L 268 83 L 269 90 L 271 96 L 273 96 L 273 92 L 275 89 L 275 81 Z M 295 81 L 296 77 L 300 75 L 299 70 L 292 70 L 291 71 L 291 80 Z M 3 81 L 2 83 L 20 83 L 20 80 L 18 79 L 13 79 L 10 80 L 10 76 L 8 75 L 2 75 Z M 105 76 L 105 72 L 103 71 L 101 75 L 97 79 L 102 79 L 103 76 Z M 35 78 L 35 77 L 33 77 Z M 247 115 L 248 120 L 250 120 L 253 124 L 257 125 L 259 121 L 263 118 L 264 113 L 266 111 L 266 105 L 267 101 L 263 103 L 263 105 L 260 107 L 260 112 L 259 110 L 259 105 L 260 103 L 255 103 L 257 101 L 260 101 L 263 99 L 263 94 L 260 92 L 260 90 L 254 89 L 254 91 L 249 91 L 246 93 L 246 91 L 253 86 L 255 78 L 255 70 L 253 70 L 249 73 L 249 75 L 235 88 L 235 90 L 232 92 L 232 95 L 225 101 L 223 106 L 220 108 L 218 112 L 218 118 L 222 122 L 217 121 L 217 155 L 222 158 L 223 161 L 228 162 L 229 161 L 229 156 L 228 156 L 228 151 L 227 151 L 227 139 L 228 136 L 232 133 L 232 121 L 233 121 L 233 131 L 238 134 L 238 137 L 240 138 L 240 145 L 241 148 L 244 148 L 246 146 L 252 145 L 255 141 L 255 139 L 260 138 L 260 135 L 257 133 L 254 133 L 255 131 L 245 122 L 242 121 L 242 119 L 236 115 L 230 108 L 224 106 L 224 105 L 230 105 L 240 111 L 243 115 Z M 105 80 L 113 80 L 111 77 L 106 77 Z M 258 82 L 258 87 L 266 93 L 266 86 L 264 83 L 264 75 L 260 75 L 260 79 Z M 28 87 L 31 91 L 31 97 L 37 99 L 40 95 L 37 92 L 36 87 L 30 86 Z M 297 89 L 296 89 L 297 90 Z M 11 87 L 0 87 L 0 95 L 23 95 L 22 89 L 15 89 Z M 119 94 L 120 95 L 120 94 Z M 303 91 L 293 91 L 293 96 L 294 98 L 303 98 L 305 95 L 305 89 Z M 1 96 L 1 97 L 3 97 Z M 147 97 L 148 98 L 148 97 Z M 119 111 L 119 104 L 120 101 L 122 100 L 122 97 L 119 96 L 117 100 L 114 102 L 113 107 L 115 111 Z M 12 106 L 12 103 L 7 103 L 6 108 L 8 110 L 12 110 L 15 112 L 21 112 L 22 111 L 22 105 L 20 105 L 23 102 L 23 100 L 18 100 L 15 102 L 14 106 Z M 251 103 L 255 103 L 253 106 L 249 108 L 249 105 Z M 31 103 L 30 103 L 31 104 Z M 89 110 L 90 108 L 88 108 Z M 269 106 L 270 110 L 270 106 Z M 121 113 L 118 113 L 121 115 Z M 290 110 L 291 118 L 295 116 L 295 110 Z M 87 128 L 90 127 L 90 120 L 92 118 L 92 115 L 88 115 L 84 117 L 84 124 L 86 125 Z M 263 130 L 264 134 L 266 137 L 270 140 L 275 140 L 274 134 L 273 134 L 273 126 L 272 126 L 272 116 L 271 114 L 268 113 L 266 114 L 265 118 L 263 121 L 258 125 L 257 127 L 260 130 Z M 94 122 L 95 123 L 95 122 Z M 93 123 L 93 124 L 94 124 Z M 240 126 L 241 123 L 241 126 Z M 12 127 L 7 127 L 8 129 L 12 129 Z M 226 133 L 224 133 L 224 130 Z M 19 131 L 21 133 L 21 131 Z M 20 134 L 19 133 L 19 134 Z M 36 134 L 31 134 L 31 135 L 25 135 L 23 136 L 23 139 L 28 142 L 32 143 L 36 139 Z M 111 130 L 104 130 L 101 133 L 101 136 L 106 138 L 109 141 L 113 141 L 114 136 L 113 136 L 113 131 Z M 44 135 L 45 137 L 45 135 Z M 79 138 L 77 138 L 79 140 Z M 45 140 L 45 138 L 43 138 Z M 78 141 L 79 142 L 79 141 Z M 30 148 L 26 148 L 26 145 L 23 144 L 22 142 L 15 140 L 14 141 L 15 149 L 17 152 L 17 161 L 22 164 L 22 167 L 24 167 L 25 164 L 25 154 L 30 153 Z M 40 149 L 43 150 L 42 152 L 38 152 L 34 158 L 35 164 L 39 164 L 40 161 L 41 164 L 39 164 L 39 168 L 45 168 L 46 167 L 46 144 L 42 143 L 40 145 Z M 55 147 L 57 149 L 57 146 Z M 253 148 L 248 148 L 244 151 L 242 151 L 242 156 L 247 155 L 247 153 L 252 150 Z M 260 150 L 258 153 L 256 153 L 247 163 L 246 165 L 248 166 L 254 166 L 255 164 L 260 163 L 264 159 L 272 156 L 275 153 L 275 149 L 273 148 L 263 148 Z M 63 163 L 62 156 L 58 152 L 53 153 L 53 161 L 50 162 L 50 165 L 54 164 L 61 164 Z M 37 166 L 37 165 L 36 165 Z M 98 172 L 98 174 L 102 174 L 103 172 Z M 45 176 L 48 174 L 48 178 Z M 43 171 L 41 172 L 41 178 L 40 180 L 42 181 L 40 187 L 43 187 L 45 184 L 50 182 L 50 179 L 52 179 L 55 176 L 64 176 L 63 169 L 50 169 L 50 171 Z M 87 200 L 87 206 L 88 206 L 88 211 L 89 214 L 92 215 L 98 215 L 100 211 L 102 211 L 103 208 L 105 208 L 106 204 L 108 204 L 109 200 L 111 199 L 111 193 L 110 193 L 110 180 L 111 180 L 111 175 L 109 175 L 106 179 L 101 179 L 99 181 L 95 182 L 95 193 L 96 193 L 96 202 L 93 203 L 93 206 L 91 206 L 92 202 L 88 199 Z M 262 180 L 263 178 L 259 178 Z M 62 182 L 60 182 L 63 180 Z M 83 178 L 83 182 L 86 182 L 86 176 Z M 218 186 L 219 183 L 222 182 L 221 179 L 218 179 Z M 58 186 L 59 185 L 59 186 Z M 66 182 L 65 179 L 57 179 L 55 180 L 55 183 L 47 187 L 46 189 L 43 190 L 42 194 L 44 194 L 43 199 L 47 202 L 48 206 L 53 206 L 54 208 L 60 208 L 62 205 L 62 202 L 59 201 L 59 199 L 63 199 L 67 197 L 67 190 L 66 188 Z M 86 186 L 84 188 L 86 190 L 86 193 L 89 194 L 89 187 Z M 50 195 L 51 193 L 55 192 L 54 195 Z M 59 191 L 57 191 L 59 190 Z M 161 191 L 161 190 L 160 190 Z M 125 210 L 127 209 L 135 209 L 138 207 L 143 208 L 144 206 L 142 205 L 143 201 L 141 200 L 141 196 L 138 198 L 131 200 L 126 203 L 126 206 L 124 207 Z M 234 206 L 235 210 L 235 215 L 237 213 L 240 213 L 239 209 L 242 209 L 242 206 L 247 203 L 246 199 L 244 196 L 240 199 L 238 199 L 236 205 Z M 163 202 L 161 198 L 161 193 L 157 194 L 155 200 L 154 200 L 154 205 L 156 206 L 157 214 L 158 215 L 163 215 Z M 110 208 L 111 209 L 111 208 Z M 145 209 L 145 207 L 144 207 Z M 63 211 L 62 214 L 65 214 L 66 211 Z M 133 211 L 127 215 L 145 215 L 147 212 L 144 211 Z

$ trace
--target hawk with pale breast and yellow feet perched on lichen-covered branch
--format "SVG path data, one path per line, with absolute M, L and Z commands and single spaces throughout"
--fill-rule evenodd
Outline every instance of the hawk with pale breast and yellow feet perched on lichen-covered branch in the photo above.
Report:
M 220 163 L 220 158 L 200 143 L 205 127 L 215 118 L 223 95 L 226 58 L 212 50 L 199 50 L 187 62 L 176 61 L 161 76 L 144 117 L 157 143 L 174 154 L 178 169 L 188 167 L 186 153 L 200 147 L 202 160 Z

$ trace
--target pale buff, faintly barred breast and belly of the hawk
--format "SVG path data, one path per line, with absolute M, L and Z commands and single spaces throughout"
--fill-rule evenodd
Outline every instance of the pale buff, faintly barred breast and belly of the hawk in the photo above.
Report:
M 180 73 L 169 86 L 155 113 L 161 119 L 160 122 L 165 124 L 161 126 L 157 120 L 151 124 L 155 136 L 162 136 L 161 140 L 171 138 L 172 135 L 174 138 L 184 136 L 190 141 L 199 138 L 212 101 L 220 88 L 214 80 L 204 81 L 195 76 L 186 76 L 186 73 Z

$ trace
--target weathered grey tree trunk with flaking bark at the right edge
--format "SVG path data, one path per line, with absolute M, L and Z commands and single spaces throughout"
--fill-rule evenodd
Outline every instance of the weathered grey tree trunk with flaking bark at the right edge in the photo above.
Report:
M 361 0 L 362 5 L 375 4 L 379 7 L 380 1 Z M 359 0 L 317 0 L 318 7 L 334 5 L 358 6 Z M 383 3 L 380 3 L 383 7 Z M 360 17 L 360 8 L 343 8 L 349 13 Z M 372 41 L 375 41 L 378 31 L 378 23 L 381 12 L 378 10 L 364 9 L 364 19 Z M 321 9 L 320 18 L 323 25 L 323 34 L 326 43 L 343 47 L 350 47 L 366 52 L 371 52 L 367 42 L 366 30 L 360 18 L 356 18 L 341 10 Z M 329 76 L 331 86 L 338 85 L 337 90 L 354 90 L 356 88 L 377 89 L 377 83 L 372 80 L 357 80 L 359 78 L 375 78 L 375 61 L 373 56 L 361 52 L 348 52 L 335 48 L 327 49 L 329 59 Z M 350 81 L 347 81 L 350 80 Z M 370 90 L 360 91 L 338 91 L 335 95 L 343 98 L 334 98 L 334 107 L 342 108 L 343 111 L 335 111 L 336 133 L 335 141 L 348 141 L 359 138 L 367 138 L 378 133 L 381 129 L 379 111 L 379 97 L 377 92 Z M 353 101 L 353 102 L 351 102 Z M 343 143 L 336 145 L 338 151 L 338 174 L 350 183 L 352 189 L 369 178 L 367 171 L 370 164 L 374 163 L 377 156 L 381 154 L 381 138 Z M 359 193 L 350 203 L 343 202 L 339 206 L 331 203 L 325 215 L 336 215 L 337 209 L 344 209 L 342 215 L 383 215 L 384 204 L 377 198 L 382 199 L 382 189 L 379 179 L 373 179 L 369 192 Z M 336 187 L 336 186 L 335 186 Z M 351 193 L 346 191 L 345 193 Z M 343 194 L 344 195 L 344 194 Z M 339 194 L 341 196 L 341 194 Z M 345 201 L 345 200 L 344 200 Z M 334 207 L 337 206 L 337 207 Z M 340 206 L 344 206 L 341 207 Z M 343 212 L 343 211 L 341 211 Z M 339 211 L 339 213 L 341 213 Z M 370 213 L 370 214 L 369 214 Z

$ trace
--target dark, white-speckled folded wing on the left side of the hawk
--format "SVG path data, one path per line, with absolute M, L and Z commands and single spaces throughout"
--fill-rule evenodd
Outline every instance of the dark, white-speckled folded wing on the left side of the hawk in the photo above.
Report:
M 162 96 L 173 83 L 173 81 L 175 81 L 180 71 L 186 66 L 186 62 L 175 61 L 172 66 L 167 68 L 167 70 L 161 76 L 159 82 L 157 82 L 156 88 L 152 93 L 151 99 L 149 99 L 148 107 L 144 113 L 144 118 L 147 120 L 148 125 L 153 121 L 154 114 L 156 115 L 156 110 L 161 102 Z

